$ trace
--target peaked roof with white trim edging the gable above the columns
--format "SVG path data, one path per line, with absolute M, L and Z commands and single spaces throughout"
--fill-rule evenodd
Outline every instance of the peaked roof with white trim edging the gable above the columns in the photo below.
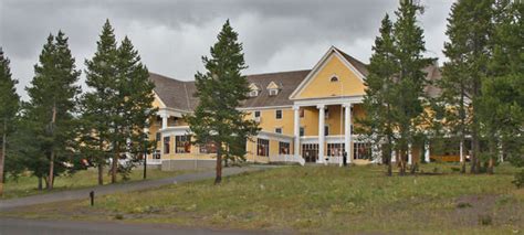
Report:
M 321 61 L 316 63 L 316 65 L 313 67 L 313 70 L 307 74 L 304 81 L 298 85 L 298 87 L 291 94 L 290 99 L 296 99 L 301 92 L 308 85 L 308 83 L 315 78 L 315 76 L 318 74 L 319 71 L 322 71 L 323 66 L 329 61 L 332 56 L 336 56 L 339 58 L 344 65 L 346 65 L 349 71 L 352 71 L 358 79 L 364 83 L 365 77 L 368 75 L 368 71 L 366 68 L 366 64 L 363 62 L 358 61 L 357 58 L 346 54 L 342 50 L 331 46 L 329 50 L 322 56 Z

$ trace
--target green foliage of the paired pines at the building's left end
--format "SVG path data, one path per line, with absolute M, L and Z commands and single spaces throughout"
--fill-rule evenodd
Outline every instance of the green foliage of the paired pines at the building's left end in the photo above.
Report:
M 86 61 L 86 84 L 92 92 L 82 98 L 83 153 L 101 168 L 120 154 L 137 161 L 153 147 L 145 132 L 153 107 L 155 85 L 140 62 L 138 52 L 126 36 L 117 47 L 113 28 L 103 26 L 97 51 Z M 112 165 L 127 178 L 133 163 Z M 116 179 L 113 175 L 112 180 Z

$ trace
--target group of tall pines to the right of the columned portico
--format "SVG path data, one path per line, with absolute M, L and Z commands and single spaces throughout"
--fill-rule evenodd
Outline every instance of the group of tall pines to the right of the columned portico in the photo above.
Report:
M 411 145 L 442 139 L 460 143 L 461 156 L 471 157 L 471 173 L 493 173 L 496 159 L 524 165 L 523 12 L 520 1 L 454 2 L 446 31 L 447 61 L 438 81 L 423 72 L 434 62 L 423 56 L 423 30 L 417 23 L 423 7 L 400 1 L 395 22 L 385 15 L 365 79 L 367 116 L 359 120 L 359 131 L 380 146 L 388 175 L 391 152 L 405 174 Z M 430 85 L 440 94 L 430 96 Z M 465 159 L 461 161 L 460 171 L 467 172 Z M 417 167 L 413 162 L 411 172 Z

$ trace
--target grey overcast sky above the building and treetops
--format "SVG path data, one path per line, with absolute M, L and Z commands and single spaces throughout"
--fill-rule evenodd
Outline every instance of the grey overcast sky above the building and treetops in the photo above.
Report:
M 428 55 L 443 60 L 451 0 L 422 0 Z M 380 20 L 398 0 L 0 0 L 0 46 L 19 93 L 49 33 L 70 38 L 76 66 L 92 57 L 105 19 L 129 36 L 150 72 L 193 79 L 226 19 L 244 45 L 247 74 L 312 68 L 331 45 L 368 62 Z M 84 76 L 82 75 L 82 79 Z

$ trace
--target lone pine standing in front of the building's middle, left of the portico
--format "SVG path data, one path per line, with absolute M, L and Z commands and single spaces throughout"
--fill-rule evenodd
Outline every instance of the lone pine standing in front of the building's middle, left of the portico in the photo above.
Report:
M 231 28 L 229 20 L 218 34 L 218 42 L 211 47 L 211 57 L 203 56 L 206 73 L 195 75 L 199 105 L 195 113 L 187 117 L 195 142 L 217 145 L 217 175 L 214 183 L 222 179 L 222 156 L 243 158 L 245 150 L 227 148 L 237 146 L 241 140 L 256 135 L 259 128 L 247 114 L 238 110 L 241 102 L 247 99 L 249 84 L 241 75 L 247 68 L 242 53 L 242 43 L 238 42 L 238 33 Z

